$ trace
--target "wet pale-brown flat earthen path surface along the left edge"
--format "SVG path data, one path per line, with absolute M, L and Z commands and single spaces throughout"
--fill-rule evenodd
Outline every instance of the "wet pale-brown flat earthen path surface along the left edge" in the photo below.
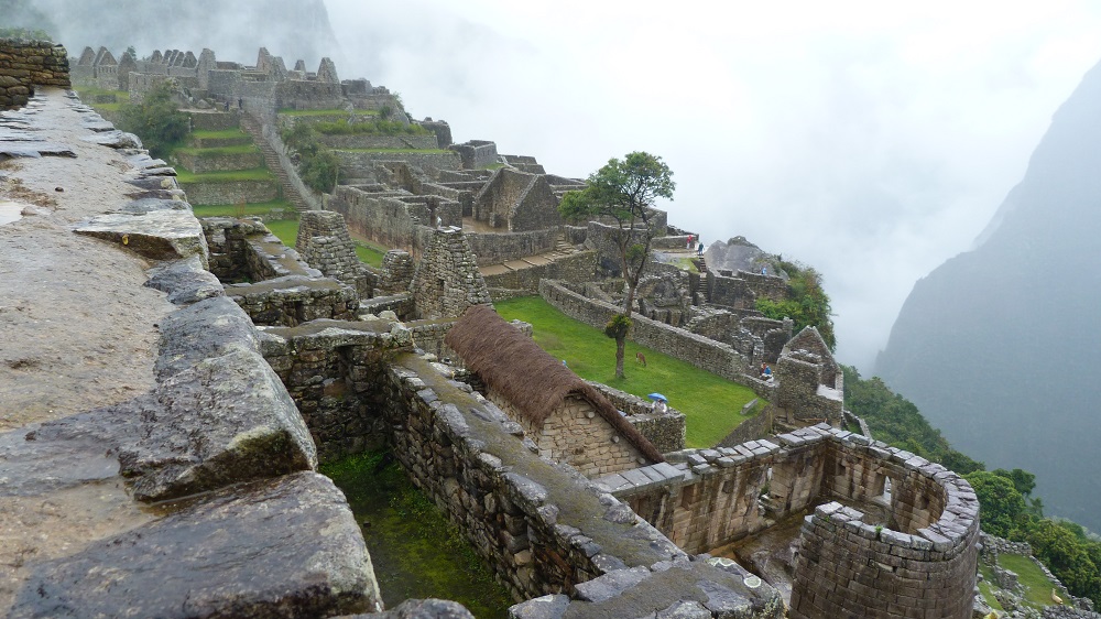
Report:
M 143 287 L 146 260 L 73 232 L 137 189 L 126 183 L 137 171 L 118 151 L 86 141 L 96 135 L 84 127 L 87 116 L 63 91 L 46 89 L 24 110 L 0 115 L 0 140 L 14 126 L 76 155 L 0 162 L 0 200 L 22 205 L 20 219 L 0 226 L 2 616 L 33 563 L 153 519 L 127 496 L 118 460 L 94 442 L 65 454 L 40 452 L 28 470 L 9 458 L 21 450 L 28 464 L 35 424 L 151 389 L 156 323 L 172 310 L 163 293 Z M 21 477 L 23 485 L 13 479 Z

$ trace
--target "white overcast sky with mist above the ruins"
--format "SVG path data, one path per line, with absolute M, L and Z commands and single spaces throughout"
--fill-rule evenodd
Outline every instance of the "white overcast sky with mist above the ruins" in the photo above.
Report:
M 1076 0 L 326 4 L 340 77 L 458 142 L 568 176 L 664 158 L 671 222 L 821 271 L 838 357 L 865 373 L 1101 59 L 1101 3 Z

